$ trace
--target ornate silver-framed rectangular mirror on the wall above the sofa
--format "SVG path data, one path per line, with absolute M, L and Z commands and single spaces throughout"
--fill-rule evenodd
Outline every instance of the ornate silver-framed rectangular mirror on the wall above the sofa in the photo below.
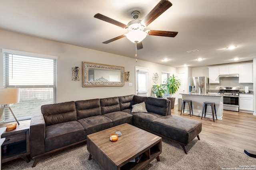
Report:
M 124 67 L 82 62 L 83 87 L 124 86 Z

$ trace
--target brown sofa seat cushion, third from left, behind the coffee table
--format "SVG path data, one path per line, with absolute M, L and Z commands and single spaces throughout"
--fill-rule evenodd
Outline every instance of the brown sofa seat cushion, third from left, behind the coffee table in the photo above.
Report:
M 121 125 L 123 123 L 132 124 L 132 115 L 123 111 L 115 111 L 104 114 L 104 116 L 112 120 L 112 126 Z

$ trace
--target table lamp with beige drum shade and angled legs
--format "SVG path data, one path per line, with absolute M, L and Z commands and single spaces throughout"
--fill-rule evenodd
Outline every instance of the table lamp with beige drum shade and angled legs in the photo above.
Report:
M 9 104 L 15 104 L 18 102 L 20 102 L 20 88 L 0 88 L 0 121 L 4 117 L 4 108 L 8 107 L 18 125 L 20 124 L 11 107 L 9 106 Z M 3 121 L 1 121 L 1 123 L 2 122 Z

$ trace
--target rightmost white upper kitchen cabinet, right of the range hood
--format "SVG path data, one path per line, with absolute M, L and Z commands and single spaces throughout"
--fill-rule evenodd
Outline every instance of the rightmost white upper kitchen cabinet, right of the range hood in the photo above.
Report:
M 253 83 L 252 63 L 238 66 L 239 83 Z

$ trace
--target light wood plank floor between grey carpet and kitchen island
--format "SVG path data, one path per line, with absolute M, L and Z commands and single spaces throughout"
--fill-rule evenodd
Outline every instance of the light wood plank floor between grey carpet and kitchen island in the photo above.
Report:
M 219 143 L 226 147 L 244 151 L 256 150 L 256 116 L 252 113 L 224 110 L 222 120 L 213 122 L 212 118 L 190 115 L 178 111 L 178 105 L 172 109 L 172 115 L 179 115 L 202 122 L 200 139 Z

